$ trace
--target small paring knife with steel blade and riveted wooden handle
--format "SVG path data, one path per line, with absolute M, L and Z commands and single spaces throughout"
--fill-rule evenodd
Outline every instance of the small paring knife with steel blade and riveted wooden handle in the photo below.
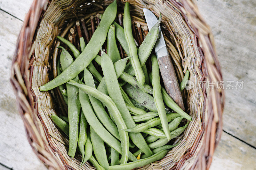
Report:
M 148 30 L 150 30 L 156 24 L 157 18 L 153 12 L 146 8 L 143 8 L 143 12 L 148 24 Z M 172 65 L 172 60 L 165 45 L 161 28 L 159 29 L 159 37 L 158 41 L 156 41 L 155 51 L 166 92 L 176 102 L 176 104 L 184 110 L 185 108 L 180 92 L 180 86 L 178 84 L 175 70 Z

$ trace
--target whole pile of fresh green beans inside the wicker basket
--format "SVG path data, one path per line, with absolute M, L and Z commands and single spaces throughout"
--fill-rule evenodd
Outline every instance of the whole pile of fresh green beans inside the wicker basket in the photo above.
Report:
M 129 3 L 124 6 L 124 28 L 114 22 L 116 11 L 115 0 L 100 17 L 88 44 L 79 37 L 79 49 L 58 36 L 65 46 L 58 47 L 57 77 L 39 87 L 41 91 L 59 88 L 68 113 L 52 113 L 51 119 L 69 138 L 68 155 L 81 154 L 80 166 L 89 161 L 97 170 L 130 170 L 162 159 L 179 144 L 172 145 L 170 140 L 179 137 L 192 120 L 160 84 L 152 49 L 159 35 L 161 14 L 137 47 Z M 107 53 L 101 47 L 106 40 Z M 123 59 L 117 41 L 127 54 Z M 152 70 L 146 61 L 152 63 Z M 180 83 L 181 91 L 188 78 L 187 71 Z M 184 118 L 189 120 L 185 126 L 180 124 Z

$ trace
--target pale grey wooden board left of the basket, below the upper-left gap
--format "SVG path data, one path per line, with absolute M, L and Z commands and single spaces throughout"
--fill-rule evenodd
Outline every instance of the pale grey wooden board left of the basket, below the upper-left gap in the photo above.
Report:
M 9 80 L 22 22 L 0 11 L 0 23 L 0 163 L 13 169 L 45 169 L 28 143 Z

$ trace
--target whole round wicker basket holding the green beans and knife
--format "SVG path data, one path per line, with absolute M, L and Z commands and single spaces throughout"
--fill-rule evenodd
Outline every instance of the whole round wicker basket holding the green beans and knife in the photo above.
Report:
M 89 2 L 89 3 L 88 3 Z M 213 152 L 220 141 L 224 93 L 202 83 L 222 80 L 214 41 L 209 26 L 198 12 L 195 0 L 128 1 L 134 22 L 145 25 L 142 8 L 156 16 L 161 12 L 162 30 L 172 57 L 178 80 L 187 69 L 197 85 L 182 93 L 187 113 L 193 117 L 180 137 L 181 143 L 160 161 L 140 169 L 209 169 Z M 123 12 L 124 0 L 118 2 Z M 11 82 L 24 121 L 28 141 L 38 158 L 49 169 L 80 169 L 81 157 L 67 154 L 67 138 L 51 120 L 50 114 L 65 113 L 60 91 L 40 92 L 38 86 L 56 77 L 56 60 L 60 42 L 74 26 L 75 19 L 102 13 L 110 1 L 34 0 L 24 20 L 12 63 Z M 201 84 L 201 85 L 198 85 Z M 92 169 L 86 163 L 81 169 Z

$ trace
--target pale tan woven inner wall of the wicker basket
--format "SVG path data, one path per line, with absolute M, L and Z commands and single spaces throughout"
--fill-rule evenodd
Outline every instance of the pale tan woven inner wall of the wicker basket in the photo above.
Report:
M 161 1 L 128 1 L 130 3 L 132 20 L 140 23 L 141 26 L 146 25 L 142 8 L 148 8 L 159 17 L 160 12 L 163 15 L 161 29 L 164 33 L 166 45 L 169 54 L 172 57 L 173 65 L 176 70 L 178 81 L 181 82 L 184 72 L 190 71 L 190 81 L 198 84 L 202 78 L 202 71 L 199 68 L 201 64 L 201 56 L 198 51 L 198 42 L 196 36 L 187 24 L 186 18 L 181 15 L 180 9 L 172 1 L 162 3 Z M 176 2 L 176 1 L 175 1 Z M 48 5 L 40 19 L 39 27 L 34 40 L 35 58 L 34 70 L 32 75 L 32 92 L 36 96 L 37 122 L 36 126 L 40 129 L 39 134 L 42 137 L 47 154 L 51 154 L 56 160 L 51 160 L 46 164 L 66 169 L 79 169 L 81 156 L 77 154 L 75 158 L 71 158 L 67 154 L 68 140 L 64 133 L 60 132 L 51 120 L 51 113 L 57 115 L 65 115 L 67 106 L 62 99 L 58 88 L 52 91 L 40 92 L 39 86 L 44 85 L 49 80 L 56 77 L 56 63 L 59 51 L 56 47 L 60 45 L 57 35 L 68 37 L 71 27 L 75 28 L 77 18 L 84 18 L 88 30 L 90 30 L 90 16 L 97 13 L 103 13 L 111 1 L 86 1 L 86 0 L 52 0 Z M 117 14 L 123 13 L 124 1 L 117 1 Z M 103 8 L 102 8 L 103 7 Z M 96 22 L 96 21 L 95 21 Z M 193 145 L 198 141 L 199 131 L 204 124 L 203 113 L 207 110 L 204 103 L 204 93 L 201 87 L 182 92 L 186 112 L 193 117 L 188 127 L 179 140 L 181 143 L 174 147 L 160 161 L 147 165 L 140 169 L 170 169 L 177 166 L 177 163 L 183 159 L 183 155 L 191 150 Z M 207 115 L 204 115 L 207 117 Z M 203 122 L 203 123 L 202 123 Z M 196 146 L 196 147 L 197 147 Z M 198 147 L 195 153 L 184 159 L 182 167 L 188 169 L 192 167 L 199 152 Z M 46 153 L 45 153 L 46 154 Z M 91 169 L 89 163 L 84 164 L 81 169 Z

